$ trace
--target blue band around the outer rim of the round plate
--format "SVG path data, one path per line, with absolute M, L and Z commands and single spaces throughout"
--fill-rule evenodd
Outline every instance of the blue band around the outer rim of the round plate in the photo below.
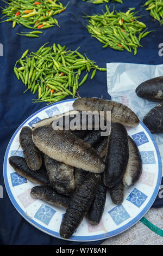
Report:
M 65 102 L 73 102 L 76 99 L 66 99 L 66 100 L 62 100 L 61 102 L 57 102 L 54 103 L 53 106 L 61 104 L 61 103 L 65 103 Z M 57 239 L 61 239 L 61 240 L 65 240 L 65 241 L 74 241 L 74 242 L 93 242 L 93 241 L 100 241 L 100 240 L 104 240 L 104 239 L 108 239 L 109 237 L 121 234 L 122 232 L 126 231 L 127 229 L 131 228 L 134 224 L 136 224 L 143 216 L 145 216 L 145 214 L 147 213 L 147 211 L 151 208 L 152 204 L 155 201 L 156 196 L 158 195 L 159 192 L 159 187 L 161 184 L 161 177 L 162 177 L 162 164 L 161 164 L 161 156 L 160 156 L 160 152 L 159 152 L 159 148 L 156 145 L 156 142 L 153 138 L 153 135 L 151 134 L 151 132 L 148 130 L 148 128 L 145 126 L 145 124 L 143 124 L 140 121 L 141 126 L 146 130 L 146 132 L 148 133 L 148 135 L 150 136 L 153 145 L 155 147 L 155 151 L 156 151 L 156 155 L 158 158 L 158 178 L 156 181 L 156 185 L 154 188 L 154 192 L 151 196 L 151 199 L 148 201 L 147 205 L 142 209 L 142 211 L 139 213 L 139 215 L 137 215 L 134 219 L 131 219 L 130 222 L 128 222 L 127 224 L 123 225 L 120 228 L 117 228 L 116 230 L 113 231 L 109 231 L 108 233 L 104 233 L 104 234 L 100 234 L 100 235 L 93 235 L 93 236 L 75 236 L 72 235 L 70 237 L 70 239 L 63 239 L 62 237 L 60 237 L 59 233 L 56 231 L 53 231 L 51 229 L 48 229 L 46 227 L 43 227 L 42 225 L 40 225 L 39 223 L 37 223 L 36 221 L 34 221 L 33 219 L 31 219 L 30 217 L 28 217 L 26 215 L 26 213 L 21 209 L 21 207 L 17 204 L 17 201 L 15 200 L 14 196 L 12 195 L 11 189 L 9 187 L 9 183 L 8 183 L 8 178 L 7 178 L 7 160 L 8 160 L 8 153 L 9 153 L 9 149 L 10 146 L 12 144 L 12 141 L 15 138 L 15 135 L 18 133 L 18 131 L 23 127 L 23 125 L 30 120 L 30 118 L 32 118 L 33 116 L 35 116 L 36 114 L 40 113 L 41 111 L 52 107 L 51 105 L 45 106 L 43 108 L 41 108 L 40 110 L 37 110 L 36 112 L 34 112 L 34 114 L 30 115 L 28 118 L 26 118 L 26 120 L 24 120 L 20 126 L 18 126 L 18 128 L 15 130 L 14 134 L 11 136 L 11 139 L 8 143 L 8 146 L 6 148 L 5 151 L 5 155 L 4 155 L 4 162 L 3 162 L 3 178 L 4 178 L 4 184 L 5 184 L 5 188 L 7 190 L 7 194 L 8 197 L 12 203 L 12 205 L 15 207 L 15 209 L 17 210 L 18 213 L 20 213 L 20 215 L 26 219 L 27 222 L 29 222 L 30 224 L 32 224 L 35 228 L 41 230 L 43 233 L 46 233 L 48 235 L 51 235 L 53 237 L 56 237 Z M 111 234 L 110 234 L 111 233 Z

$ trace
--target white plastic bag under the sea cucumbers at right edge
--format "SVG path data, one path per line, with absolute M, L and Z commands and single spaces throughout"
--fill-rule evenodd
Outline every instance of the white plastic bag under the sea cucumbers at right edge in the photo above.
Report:
M 142 121 L 143 117 L 159 103 L 136 95 L 137 86 L 148 79 L 163 75 L 163 65 L 132 63 L 107 63 L 107 85 L 111 99 L 129 106 Z M 163 133 L 153 134 L 163 163 Z

